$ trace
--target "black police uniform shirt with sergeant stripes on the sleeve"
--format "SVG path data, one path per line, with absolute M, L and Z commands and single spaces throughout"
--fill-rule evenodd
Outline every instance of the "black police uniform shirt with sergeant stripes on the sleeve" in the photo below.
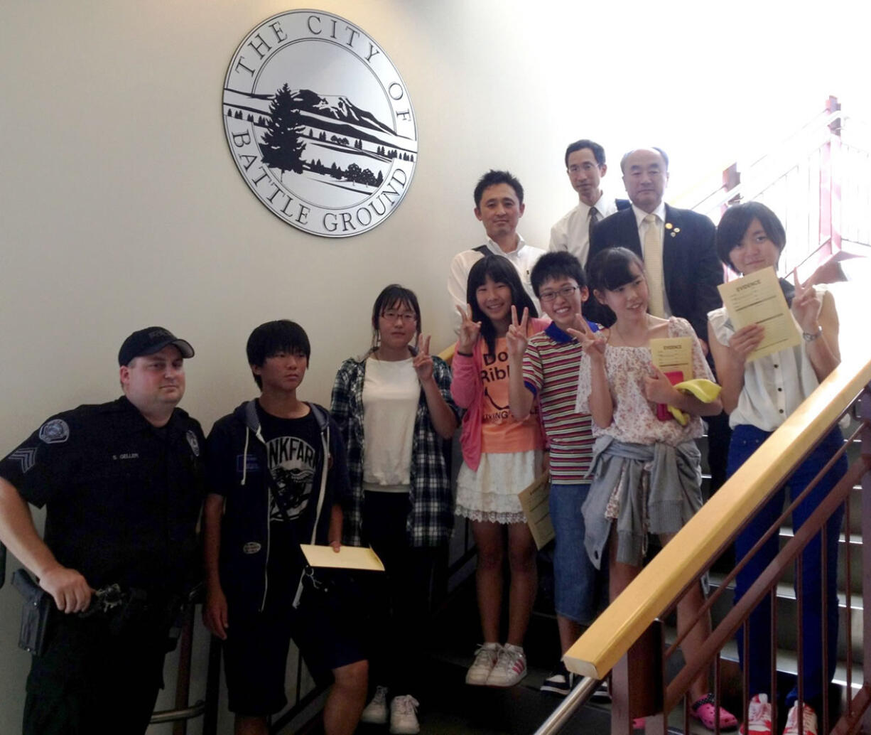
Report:
M 157 428 L 122 397 L 52 417 L 0 476 L 46 506 L 46 545 L 91 587 L 180 590 L 197 558 L 205 446 L 186 412 Z

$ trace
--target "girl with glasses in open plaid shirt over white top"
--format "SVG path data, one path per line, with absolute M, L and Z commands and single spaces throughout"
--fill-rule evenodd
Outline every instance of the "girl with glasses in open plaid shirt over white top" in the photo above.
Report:
M 369 664 L 369 681 L 378 686 L 362 721 L 389 717 L 391 732 L 418 732 L 415 671 L 402 665 L 403 652 L 421 636 L 429 582 L 453 525 L 445 442 L 459 410 L 448 365 L 429 355 L 413 291 L 392 284 L 375 299 L 372 347 L 341 364 L 332 413 L 353 493 L 345 542 L 370 545 L 387 572 L 375 600 L 381 609 Z

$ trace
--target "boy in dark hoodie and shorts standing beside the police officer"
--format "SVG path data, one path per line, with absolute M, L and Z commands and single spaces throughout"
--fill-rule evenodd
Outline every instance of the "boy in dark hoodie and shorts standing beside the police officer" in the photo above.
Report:
M 266 735 L 269 715 L 287 704 L 291 637 L 316 680 L 334 678 L 327 735 L 354 732 L 365 704 L 368 663 L 349 611 L 302 584 L 300 543 L 338 551 L 350 498 L 338 427 L 296 396 L 310 353 L 299 324 L 253 330 L 247 356 L 260 398 L 219 419 L 208 438 L 203 616 L 225 642 L 235 735 Z

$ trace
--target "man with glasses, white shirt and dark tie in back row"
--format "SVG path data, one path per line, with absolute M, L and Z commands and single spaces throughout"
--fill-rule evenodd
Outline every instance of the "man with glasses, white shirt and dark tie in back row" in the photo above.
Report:
M 607 172 L 604 148 L 598 143 L 576 140 L 565 149 L 565 173 L 578 202 L 550 228 L 551 252 L 567 250 L 586 266 L 592 228 L 609 214 L 629 207 L 628 200 L 610 199 L 602 193 L 600 182 Z

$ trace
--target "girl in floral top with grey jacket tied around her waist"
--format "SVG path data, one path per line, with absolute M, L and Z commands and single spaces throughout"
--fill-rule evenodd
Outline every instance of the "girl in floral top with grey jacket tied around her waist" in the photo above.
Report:
M 699 340 L 690 323 L 672 316 L 647 313 L 648 289 L 644 264 L 626 248 L 597 255 L 588 268 L 590 287 L 598 302 L 616 316 L 603 336 L 584 324 L 570 330 L 584 348 L 578 374 L 577 411 L 593 418 L 590 493 L 584 502 L 584 545 L 598 568 L 608 556 L 613 600 L 638 575 L 644 562 L 647 535 L 665 544 L 701 507 L 701 457 L 693 439 L 702 435 L 699 416 L 722 411 L 719 400 L 703 403 L 680 392 L 652 364 L 651 339 L 692 338 L 692 378 L 713 380 Z M 657 404 L 690 414 L 681 425 L 671 417 L 657 418 Z M 706 583 L 706 582 L 705 582 Z M 701 585 L 693 586 L 678 603 L 678 626 L 684 630 L 704 602 Z M 699 622 L 684 640 L 692 653 L 710 632 L 710 618 Z M 713 729 L 717 712 L 708 693 L 707 674 L 690 687 L 693 717 Z M 720 708 L 719 726 L 737 725 Z M 636 723 L 643 726 L 642 723 Z

